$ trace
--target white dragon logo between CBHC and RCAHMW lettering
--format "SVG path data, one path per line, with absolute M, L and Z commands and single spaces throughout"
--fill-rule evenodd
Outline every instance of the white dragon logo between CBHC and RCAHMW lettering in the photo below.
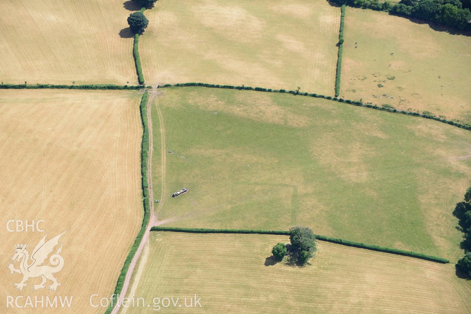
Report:
M 49 263 L 56 267 L 51 267 L 49 265 L 41 265 L 45 262 L 45 260 L 48 258 L 48 255 L 54 251 L 54 247 L 59 244 L 59 238 L 61 235 L 65 234 L 67 231 L 64 231 L 60 235 L 56 235 L 52 239 L 50 239 L 48 242 L 46 242 L 46 235 L 44 235 L 39 241 L 38 244 L 36 244 L 36 247 L 32 251 L 31 254 L 31 260 L 32 262 L 28 264 L 30 255 L 29 252 L 26 251 L 28 248 L 28 244 L 15 244 L 15 254 L 11 259 L 13 259 L 13 263 L 8 264 L 8 268 L 10 269 L 10 275 L 13 275 L 13 273 L 18 273 L 18 274 L 23 274 L 23 280 L 20 283 L 14 283 L 13 285 L 16 287 L 16 290 L 23 291 L 23 287 L 27 287 L 28 284 L 25 283 L 28 281 L 29 278 L 36 278 L 41 276 L 42 277 L 42 282 L 41 284 L 35 284 L 32 286 L 33 290 L 38 290 L 38 289 L 44 289 L 46 288 L 44 286 L 44 283 L 46 283 L 47 279 L 52 281 L 52 284 L 49 285 L 49 290 L 56 292 L 57 286 L 61 286 L 62 284 L 57 282 L 57 278 L 55 278 L 52 274 L 58 273 L 62 270 L 62 267 L 64 267 L 64 258 L 59 255 L 62 250 L 62 243 L 60 245 L 60 248 L 57 250 L 55 254 L 52 254 L 51 257 L 49 258 Z M 20 268 L 16 269 L 14 264 L 16 262 L 20 262 Z

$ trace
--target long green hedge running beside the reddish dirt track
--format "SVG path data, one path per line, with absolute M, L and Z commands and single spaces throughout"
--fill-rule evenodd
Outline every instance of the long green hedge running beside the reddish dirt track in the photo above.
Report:
M 147 160 L 148 160 L 148 153 L 149 153 L 149 127 L 147 123 L 147 98 L 148 93 L 147 91 L 142 95 L 141 103 L 140 103 L 140 114 L 141 114 L 141 122 L 142 122 L 142 141 L 141 141 L 141 186 L 142 186 L 142 196 L 143 196 L 143 208 L 144 208 L 144 217 L 142 219 L 141 228 L 139 230 L 138 236 L 134 243 L 131 246 L 131 250 L 128 254 L 128 257 L 124 261 L 124 265 L 121 269 L 121 273 L 118 277 L 118 281 L 116 283 L 116 287 L 114 288 L 113 300 L 110 302 L 110 306 L 106 309 L 105 314 L 111 313 L 113 311 L 113 305 L 117 304 L 118 295 L 121 294 L 122 285 L 124 283 L 124 279 L 128 272 L 129 266 L 131 264 L 136 251 L 138 250 L 138 246 L 141 243 L 142 237 L 146 232 L 147 224 L 149 223 L 149 216 L 150 216 L 150 203 L 149 203 L 149 185 L 147 182 Z

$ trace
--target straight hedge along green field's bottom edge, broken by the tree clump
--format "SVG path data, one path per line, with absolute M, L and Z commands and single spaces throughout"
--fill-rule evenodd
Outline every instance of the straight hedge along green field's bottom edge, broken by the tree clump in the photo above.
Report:
M 239 233 L 239 234 L 259 234 L 259 235 L 290 235 L 289 230 L 255 230 L 255 229 L 208 229 L 208 228 L 178 228 L 178 227 L 152 227 L 151 231 L 173 231 L 173 232 L 187 232 L 187 233 Z M 403 255 L 408 257 L 414 257 L 417 259 L 426 259 L 432 262 L 447 264 L 450 261 L 437 256 L 417 253 L 413 251 L 400 250 L 395 248 L 389 248 L 381 245 L 367 244 L 363 242 L 355 242 L 344 240 L 340 238 L 333 238 L 325 235 L 315 235 L 317 240 L 326 241 L 331 243 L 337 243 L 346 246 L 357 247 L 360 249 L 366 249 L 371 251 L 378 251 L 384 253 L 391 253 L 397 255 Z

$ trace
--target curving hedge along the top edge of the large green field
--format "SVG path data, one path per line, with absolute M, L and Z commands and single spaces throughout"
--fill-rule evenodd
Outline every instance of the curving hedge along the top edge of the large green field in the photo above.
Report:
M 177 83 L 177 84 L 165 84 L 165 85 L 159 85 L 157 88 L 167 88 L 167 87 L 188 87 L 188 86 L 200 86 L 200 87 L 211 87 L 211 88 L 227 88 L 227 89 L 238 89 L 238 90 L 252 90 L 252 91 L 258 91 L 258 92 L 271 92 L 271 93 L 288 93 L 288 94 L 293 94 L 293 95 L 301 95 L 301 96 L 309 96 L 309 97 L 316 97 L 316 98 L 324 98 L 327 100 L 333 100 L 335 102 L 345 102 L 351 105 L 355 106 L 360 106 L 360 107 L 366 107 L 366 108 L 372 108 L 376 110 L 383 110 L 383 111 L 388 111 L 388 112 L 395 112 L 395 113 L 402 113 L 405 115 L 409 116 L 416 116 L 416 117 L 422 117 L 422 118 L 427 118 L 427 119 L 432 119 L 435 121 L 447 123 L 452 126 L 457 126 L 459 128 L 465 129 L 465 130 L 471 130 L 471 126 L 461 124 L 455 121 L 447 120 L 444 118 L 439 118 L 439 117 L 434 117 L 431 115 L 427 115 L 424 113 L 420 112 L 414 112 L 414 111 L 407 111 L 407 110 L 398 110 L 395 108 L 388 108 L 388 107 L 383 107 L 383 106 L 378 106 L 378 105 L 373 105 L 369 103 L 363 103 L 363 102 L 357 102 L 349 99 L 343 99 L 343 98 L 337 98 L 337 97 L 332 97 L 332 96 L 325 96 L 321 94 L 316 94 L 316 93 L 300 93 L 299 91 L 286 91 L 285 89 L 271 89 L 271 88 L 263 88 L 263 87 L 252 87 L 252 86 L 233 86 L 233 85 L 219 85 L 219 84 L 208 84 L 208 83 Z

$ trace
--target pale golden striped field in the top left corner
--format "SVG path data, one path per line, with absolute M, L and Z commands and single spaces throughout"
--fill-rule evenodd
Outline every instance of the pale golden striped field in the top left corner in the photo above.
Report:
M 123 2 L 2 0 L 0 80 L 137 84 Z

